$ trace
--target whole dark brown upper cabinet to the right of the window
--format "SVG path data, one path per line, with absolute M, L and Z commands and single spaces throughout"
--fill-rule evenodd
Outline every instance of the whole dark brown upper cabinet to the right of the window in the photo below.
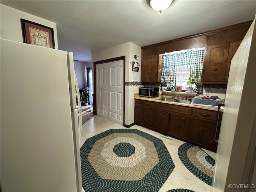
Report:
M 206 36 L 202 83 L 227 84 L 231 60 L 251 22 L 214 30 Z

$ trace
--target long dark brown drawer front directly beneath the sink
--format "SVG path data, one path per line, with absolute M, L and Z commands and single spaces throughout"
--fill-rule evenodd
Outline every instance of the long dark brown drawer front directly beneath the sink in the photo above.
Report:
M 155 108 L 164 111 L 176 112 L 186 115 L 191 115 L 191 108 L 184 106 L 177 106 L 172 104 L 156 103 Z

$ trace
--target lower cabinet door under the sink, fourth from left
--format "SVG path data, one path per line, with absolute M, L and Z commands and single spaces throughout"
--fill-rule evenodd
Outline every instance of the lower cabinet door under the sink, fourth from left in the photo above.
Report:
M 171 113 L 169 134 L 188 140 L 190 117 Z

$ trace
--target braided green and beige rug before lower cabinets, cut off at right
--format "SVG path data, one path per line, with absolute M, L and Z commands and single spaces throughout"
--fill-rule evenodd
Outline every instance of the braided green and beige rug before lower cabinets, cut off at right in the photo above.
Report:
M 184 143 L 178 148 L 178 155 L 184 166 L 197 178 L 212 184 L 215 160 L 200 147 Z

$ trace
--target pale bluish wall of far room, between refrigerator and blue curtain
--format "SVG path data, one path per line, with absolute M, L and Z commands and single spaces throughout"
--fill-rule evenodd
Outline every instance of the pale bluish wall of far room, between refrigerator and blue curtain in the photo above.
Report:
M 86 83 L 85 66 L 85 62 L 74 61 L 74 69 L 79 89 L 82 89 L 84 87 L 84 84 Z

